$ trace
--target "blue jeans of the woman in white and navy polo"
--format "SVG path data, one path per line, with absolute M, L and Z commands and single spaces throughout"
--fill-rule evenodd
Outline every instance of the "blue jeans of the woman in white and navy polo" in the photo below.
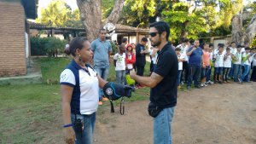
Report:
M 82 120 L 82 124 L 84 125 L 84 130 L 79 132 L 73 127 L 73 130 L 76 134 L 76 144 L 92 144 L 93 143 L 93 131 L 95 128 L 96 122 L 96 112 L 90 115 L 79 115 L 77 114 L 77 119 L 80 118 Z M 75 115 L 71 114 L 72 124 L 74 125 Z

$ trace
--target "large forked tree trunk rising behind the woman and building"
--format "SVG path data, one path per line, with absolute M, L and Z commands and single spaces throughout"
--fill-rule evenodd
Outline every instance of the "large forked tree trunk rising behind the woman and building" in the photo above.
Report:
M 107 22 L 116 24 L 125 0 L 116 0 L 111 14 L 102 21 L 102 0 L 77 0 L 80 19 L 85 29 L 85 37 L 90 41 L 98 36 L 100 28 Z

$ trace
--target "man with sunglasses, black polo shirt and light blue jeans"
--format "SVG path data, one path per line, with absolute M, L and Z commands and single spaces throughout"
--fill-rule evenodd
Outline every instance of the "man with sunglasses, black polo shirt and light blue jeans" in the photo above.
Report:
M 159 49 L 156 67 L 150 77 L 131 78 L 151 88 L 148 113 L 154 117 L 154 144 L 172 144 L 171 122 L 177 104 L 177 55 L 168 43 L 170 28 L 159 21 L 149 26 L 149 39 Z

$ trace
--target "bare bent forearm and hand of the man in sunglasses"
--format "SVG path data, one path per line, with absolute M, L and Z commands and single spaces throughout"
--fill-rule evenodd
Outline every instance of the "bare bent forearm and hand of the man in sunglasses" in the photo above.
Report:
M 130 72 L 130 76 L 132 79 L 136 80 L 137 83 L 148 86 L 149 88 L 154 88 L 157 84 L 159 84 L 163 80 L 162 76 L 154 72 L 151 74 L 150 77 L 142 77 L 142 76 L 138 76 L 135 73 L 135 71 L 132 70 Z

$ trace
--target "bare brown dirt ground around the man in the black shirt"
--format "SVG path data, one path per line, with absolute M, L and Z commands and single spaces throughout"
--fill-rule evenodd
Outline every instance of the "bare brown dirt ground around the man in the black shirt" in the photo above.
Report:
M 104 112 L 96 120 L 95 144 L 152 144 L 148 101 L 125 104 L 125 115 Z M 105 121 L 104 121 L 105 120 Z M 179 92 L 172 123 L 174 144 L 255 144 L 256 83 L 213 84 Z

